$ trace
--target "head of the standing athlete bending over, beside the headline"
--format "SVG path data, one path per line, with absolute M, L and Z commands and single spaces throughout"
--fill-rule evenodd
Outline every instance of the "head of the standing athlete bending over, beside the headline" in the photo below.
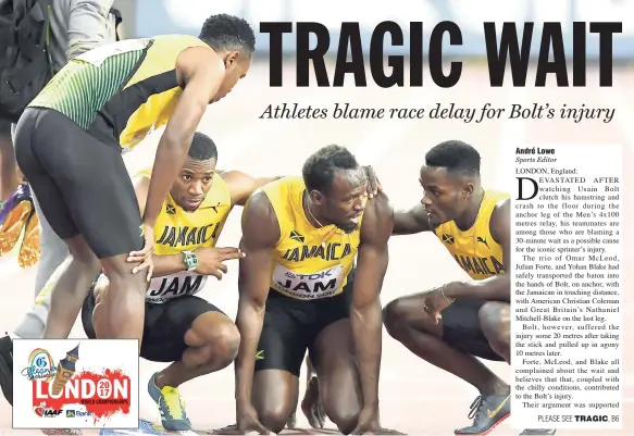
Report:
M 214 99 L 217 101 L 229 94 L 238 80 L 247 75 L 251 55 L 256 51 L 256 35 L 245 20 L 217 14 L 207 18 L 199 38 L 224 61 L 225 77 Z

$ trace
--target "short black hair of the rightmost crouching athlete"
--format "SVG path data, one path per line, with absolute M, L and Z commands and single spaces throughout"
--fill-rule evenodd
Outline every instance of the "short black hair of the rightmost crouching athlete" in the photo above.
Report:
M 452 174 L 480 176 L 480 153 L 461 140 L 447 140 L 425 154 L 426 166 L 443 166 Z

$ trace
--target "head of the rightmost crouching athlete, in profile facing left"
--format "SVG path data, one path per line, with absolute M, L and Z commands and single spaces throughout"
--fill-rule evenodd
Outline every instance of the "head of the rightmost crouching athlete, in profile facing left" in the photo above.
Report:
M 459 140 L 440 142 L 425 154 L 420 182 L 430 224 L 457 220 L 480 188 L 480 153 Z

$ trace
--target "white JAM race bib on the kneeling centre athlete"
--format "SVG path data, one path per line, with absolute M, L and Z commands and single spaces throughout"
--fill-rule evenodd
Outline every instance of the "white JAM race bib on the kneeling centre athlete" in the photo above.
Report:
M 344 283 L 344 266 L 335 265 L 314 273 L 296 273 L 281 264 L 273 272 L 272 287 L 301 300 L 333 297 Z

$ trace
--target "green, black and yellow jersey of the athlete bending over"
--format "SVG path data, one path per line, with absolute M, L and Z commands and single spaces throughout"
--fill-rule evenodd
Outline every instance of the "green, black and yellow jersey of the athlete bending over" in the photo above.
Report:
M 209 47 L 188 35 L 100 46 L 69 62 L 29 105 L 54 109 L 99 139 L 130 149 L 167 123 L 183 92 L 176 59 L 197 46 Z

